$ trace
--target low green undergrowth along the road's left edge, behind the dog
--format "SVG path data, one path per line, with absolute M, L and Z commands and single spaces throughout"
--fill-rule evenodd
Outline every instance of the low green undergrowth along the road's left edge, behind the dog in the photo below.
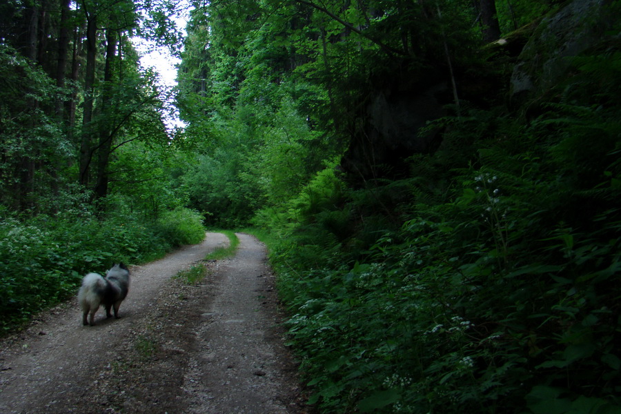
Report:
M 205 235 L 191 210 L 146 219 L 124 211 L 100 217 L 87 209 L 0 219 L 0 334 L 75 295 L 83 275 L 115 262 L 140 264 Z

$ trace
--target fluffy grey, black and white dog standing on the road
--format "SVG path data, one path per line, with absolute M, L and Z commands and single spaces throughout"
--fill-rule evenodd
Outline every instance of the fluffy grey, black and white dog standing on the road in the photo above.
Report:
M 95 313 L 100 305 L 106 306 L 106 316 L 111 317 L 110 309 L 114 306 L 115 317 L 119 318 L 119 306 L 129 290 L 129 270 L 122 263 L 112 266 L 106 277 L 98 273 L 88 273 L 82 279 L 78 301 L 82 307 L 82 324 L 94 326 Z M 90 313 L 90 322 L 87 316 Z

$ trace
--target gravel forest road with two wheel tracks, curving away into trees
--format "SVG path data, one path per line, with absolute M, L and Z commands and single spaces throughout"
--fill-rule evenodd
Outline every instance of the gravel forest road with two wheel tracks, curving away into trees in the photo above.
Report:
M 73 299 L 0 342 L 0 413 L 307 413 L 279 326 L 266 251 L 238 234 L 233 259 L 204 262 L 228 244 L 208 233 L 132 266 L 121 319 L 81 325 Z M 203 282 L 171 279 L 196 264 Z

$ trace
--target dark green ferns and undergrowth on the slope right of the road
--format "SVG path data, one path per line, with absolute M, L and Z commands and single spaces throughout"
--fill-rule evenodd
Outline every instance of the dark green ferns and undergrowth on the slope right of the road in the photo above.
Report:
M 528 122 L 446 118 L 411 177 L 255 218 L 322 413 L 621 413 L 621 55 Z

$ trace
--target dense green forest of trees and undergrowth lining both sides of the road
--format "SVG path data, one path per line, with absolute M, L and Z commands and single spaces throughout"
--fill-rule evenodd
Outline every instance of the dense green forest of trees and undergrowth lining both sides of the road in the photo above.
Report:
M 621 413 L 619 16 L 2 1 L 0 334 L 87 271 L 243 230 L 317 412 Z M 174 90 L 135 39 L 181 58 Z

